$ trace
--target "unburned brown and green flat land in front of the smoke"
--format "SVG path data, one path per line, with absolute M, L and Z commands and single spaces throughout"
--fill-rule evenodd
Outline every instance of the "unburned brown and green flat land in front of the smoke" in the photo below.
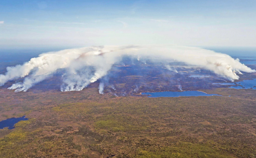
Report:
M 1 158 L 255 158 L 256 91 L 202 90 L 210 97 L 147 98 L 0 89 Z M 230 95 L 230 97 L 229 97 Z

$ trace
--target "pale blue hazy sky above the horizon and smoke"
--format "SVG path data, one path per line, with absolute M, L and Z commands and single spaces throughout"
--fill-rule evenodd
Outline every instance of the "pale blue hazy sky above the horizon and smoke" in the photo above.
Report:
M 255 0 L 0 1 L 0 48 L 255 41 Z

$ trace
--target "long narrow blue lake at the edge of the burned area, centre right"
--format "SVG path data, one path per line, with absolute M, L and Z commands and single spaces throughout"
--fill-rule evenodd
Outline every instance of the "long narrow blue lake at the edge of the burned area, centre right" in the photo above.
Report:
M 171 92 L 171 91 L 166 91 L 166 92 L 145 92 L 141 93 L 142 95 L 151 95 L 148 96 L 149 98 L 156 98 L 156 97 L 190 97 L 190 96 L 221 96 L 218 94 L 207 94 L 204 92 L 200 91 L 183 91 L 183 92 Z

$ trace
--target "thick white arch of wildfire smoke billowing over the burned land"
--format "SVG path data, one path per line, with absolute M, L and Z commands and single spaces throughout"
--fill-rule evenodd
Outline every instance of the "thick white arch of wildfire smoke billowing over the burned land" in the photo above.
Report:
M 9 80 L 25 77 L 23 83 L 15 83 L 9 89 L 15 89 L 15 92 L 27 91 L 58 69 L 65 69 L 61 91 L 80 91 L 105 76 L 112 65 L 124 55 L 135 56 L 138 60 L 142 57 L 161 59 L 163 63 L 167 60 L 176 60 L 211 70 L 230 81 L 238 79 L 237 73 L 242 74 L 241 71 L 256 72 L 229 55 L 196 47 L 94 46 L 44 53 L 23 65 L 7 67 L 6 74 L 0 75 L 0 86 Z M 169 65 L 166 65 L 166 68 L 177 72 Z

